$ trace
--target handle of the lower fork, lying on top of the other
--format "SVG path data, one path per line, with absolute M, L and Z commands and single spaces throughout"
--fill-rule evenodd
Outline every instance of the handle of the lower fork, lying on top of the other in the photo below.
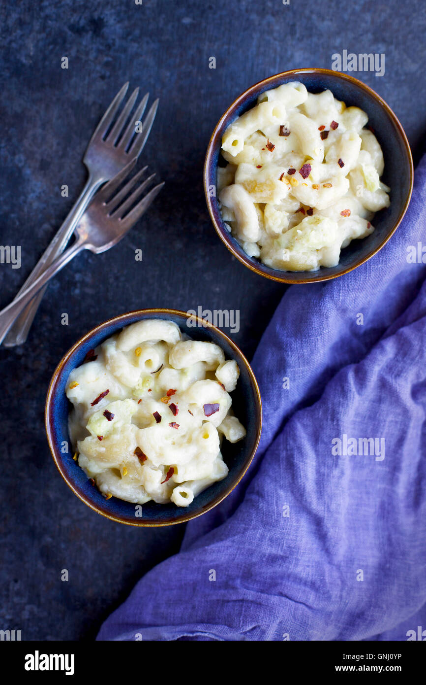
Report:
M 81 238 L 76 240 L 71 247 L 68 247 L 53 264 L 48 266 L 47 269 L 35 279 L 31 286 L 23 290 L 21 295 L 15 297 L 10 305 L 0 312 L 0 345 L 3 338 L 8 333 L 8 330 L 16 320 L 16 317 L 19 316 L 29 304 L 31 305 L 31 300 L 34 298 L 34 295 L 39 292 L 40 288 L 44 288 L 46 283 L 84 248 L 84 241 Z

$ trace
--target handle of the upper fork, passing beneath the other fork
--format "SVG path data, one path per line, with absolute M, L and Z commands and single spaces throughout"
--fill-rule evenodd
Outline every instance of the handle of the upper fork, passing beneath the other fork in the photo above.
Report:
M 96 190 L 98 190 L 99 186 L 101 186 L 101 184 L 103 184 L 104 181 L 105 179 L 103 178 L 94 178 L 92 177 L 92 175 L 89 175 L 88 180 L 83 190 L 81 191 L 79 197 L 77 198 L 77 201 L 72 206 L 70 213 L 68 214 L 64 223 L 55 234 L 53 240 L 51 240 L 51 242 L 49 243 L 49 247 L 46 248 L 40 259 L 38 260 L 36 266 L 34 266 L 34 269 L 29 274 L 29 277 L 27 278 L 21 289 L 18 290 L 18 294 L 16 295 L 16 297 L 18 297 L 18 295 L 21 295 L 22 292 L 27 290 L 27 288 L 29 288 L 29 286 L 36 281 L 36 279 L 38 278 L 38 276 L 40 276 L 44 269 L 46 269 L 47 266 L 52 264 L 52 262 L 54 262 L 57 256 L 64 251 L 66 245 L 68 244 L 72 236 L 72 233 L 74 232 L 77 223 L 79 222 L 83 212 L 85 211 L 85 208 L 90 203 L 90 200 L 94 196 Z M 25 340 L 27 340 L 29 329 L 31 328 L 31 324 L 34 320 L 34 316 L 36 316 L 38 306 L 42 301 L 44 292 L 46 292 L 46 287 L 41 288 L 37 297 L 34 297 L 34 299 L 32 299 L 32 301 L 29 302 L 29 304 L 21 313 L 21 315 L 18 316 L 14 325 L 12 325 L 8 333 L 8 336 L 5 338 L 5 341 L 3 343 L 5 347 L 15 347 L 16 345 L 22 345 L 23 343 L 25 343 Z

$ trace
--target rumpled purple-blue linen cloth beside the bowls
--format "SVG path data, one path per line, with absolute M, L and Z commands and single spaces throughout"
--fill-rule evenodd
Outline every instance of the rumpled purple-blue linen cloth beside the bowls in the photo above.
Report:
M 425 208 L 423 158 L 380 253 L 285 292 L 253 360 L 264 412 L 254 464 L 98 639 L 407 640 L 426 629 L 426 266 L 410 258 L 426 243 Z

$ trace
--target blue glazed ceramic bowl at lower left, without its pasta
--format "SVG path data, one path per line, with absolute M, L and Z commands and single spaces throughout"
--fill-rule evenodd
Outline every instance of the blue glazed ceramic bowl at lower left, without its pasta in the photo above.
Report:
M 194 340 L 216 343 L 222 347 L 227 359 L 235 359 L 240 369 L 240 376 L 237 388 L 232 393 L 232 407 L 241 423 L 245 425 L 247 436 L 234 445 L 224 441 L 222 454 L 229 468 L 228 475 L 200 493 L 189 507 L 182 508 L 173 503 L 157 504 L 150 501 L 142 506 L 142 516 L 137 518 L 134 504 L 116 497 L 105 499 L 98 488 L 92 485 L 83 469 L 72 459 L 72 448 L 69 447 L 68 453 L 63 453 L 61 448 L 64 441 L 71 445 L 68 435 L 68 412 L 71 404 L 65 395 L 70 372 L 83 363 L 90 349 L 120 331 L 122 327 L 142 319 L 174 321 L 183 333 Z M 96 326 L 90 333 L 80 338 L 62 358 L 53 373 L 47 393 L 45 412 L 46 434 L 53 460 L 72 492 L 98 514 L 103 514 L 112 521 L 129 525 L 156 526 L 183 523 L 183 521 L 194 519 L 209 511 L 229 495 L 247 471 L 256 452 L 261 437 L 262 404 L 250 364 L 237 345 L 232 343 L 232 340 L 222 331 L 212 325 L 203 327 L 200 319 L 198 319 L 200 327 L 188 327 L 187 319 L 185 312 L 172 309 L 145 309 L 116 316 Z

